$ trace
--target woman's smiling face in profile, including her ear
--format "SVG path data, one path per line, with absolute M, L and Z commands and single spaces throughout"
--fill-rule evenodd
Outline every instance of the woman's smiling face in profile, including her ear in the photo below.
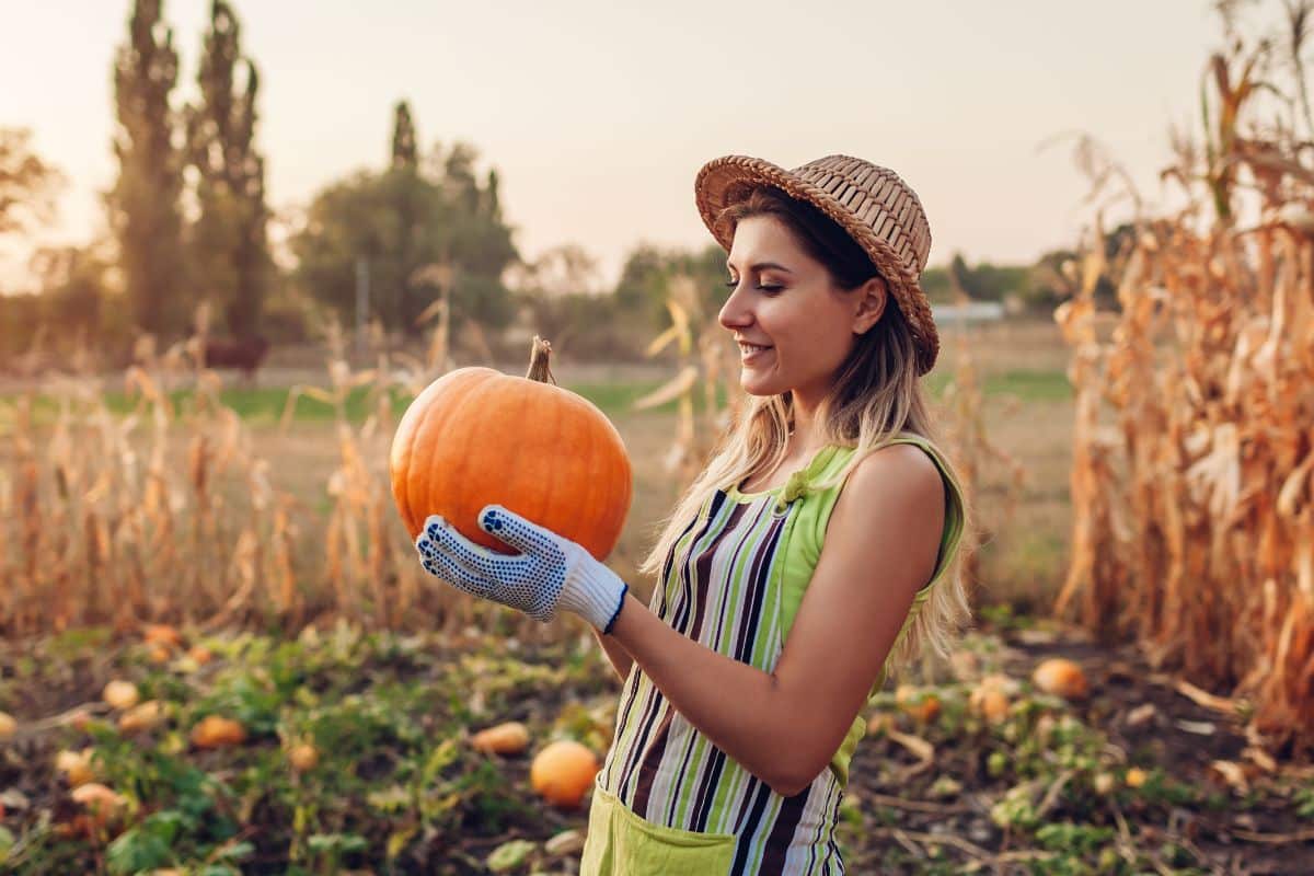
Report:
M 732 292 L 719 319 L 740 347 L 740 385 L 820 402 L 857 335 L 880 318 L 884 284 L 840 289 L 774 215 L 740 221 L 727 268 Z

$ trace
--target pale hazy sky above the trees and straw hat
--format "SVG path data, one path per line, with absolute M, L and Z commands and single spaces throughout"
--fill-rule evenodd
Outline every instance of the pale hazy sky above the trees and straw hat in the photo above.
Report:
M 1071 130 L 1097 137 L 1156 200 L 1169 122 L 1198 123 L 1221 28 L 1208 0 L 235 0 L 261 72 L 271 205 L 389 154 L 393 104 L 423 147 L 473 143 L 497 167 L 526 257 L 577 243 L 614 281 L 640 240 L 711 238 L 692 181 L 737 152 L 796 167 L 842 152 L 920 194 L 930 264 L 1031 260 L 1089 219 Z M 166 0 L 196 77 L 208 0 Z M 0 125 L 33 130 L 68 177 L 43 242 L 104 225 L 116 173 L 112 60 L 127 0 L 0 0 Z M 0 250 L 13 289 L 26 247 Z

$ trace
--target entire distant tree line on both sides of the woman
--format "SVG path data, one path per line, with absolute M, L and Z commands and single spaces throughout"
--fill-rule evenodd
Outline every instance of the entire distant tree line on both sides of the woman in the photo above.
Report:
M 463 327 L 495 338 L 520 320 L 576 355 L 627 356 L 665 323 L 677 274 L 694 278 L 706 315 L 715 314 L 725 269 L 711 243 L 639 244 L 611 289 L 599 288 L 595 263 L 576 244 L 523 259 L 497 171 L 481 171 L 469 143 L 422 148 L 405 100 L 393 109 L 386 162 L 317 192 L 289 236 L 290 267 L 280 267 L 259 147 L 261 76 L 231 3 L 212 0 L 196 99 L 185 105 L 175 99 L 179 76 L 162 0 L 133 0 L 113 62 L 110 236 L 37 252 L 41 293 L 0 296 L 4 349 L 41 332 L 51 345 L 89 341 L 120 353 L 142 332 L 168 343 L 194 330 L 202 301 L 209 331 L 233 338 L 302 340 L 317 322 L 351 326 L 361 317 L 415 336 L 442 296 L 457 340 Z M 25 131 L 0 129 L 0 235 L 49 221 L 59 185 Z M 1070 292 L 1070 259 L 1055 251 L 1033 265 L 972 267 L 954 256 L 922 282 L 937 302 L 961 289 L 1042 307 Z

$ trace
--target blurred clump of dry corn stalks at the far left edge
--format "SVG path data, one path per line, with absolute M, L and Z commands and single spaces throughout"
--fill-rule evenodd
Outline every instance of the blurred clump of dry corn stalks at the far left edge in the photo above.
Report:
M 252 563 L 267 552 L 235 549 L 277 544 L 260 490 L 235 486 L 258 479 L 258 461 L 198 349 L 193 340 L 156 355 L 139 344 L 125 374 L 135 401 L 126 416 L 106 407 L 89 374 L 45 380 L 54 411 L 34 411 L 35 386 L 20 399 L 0 450 L 7 633 L 194 621 L 240 592 L 242 579 L 264 580 Z M 189 381 L 192 405 L 180 407 L 170 389 Z

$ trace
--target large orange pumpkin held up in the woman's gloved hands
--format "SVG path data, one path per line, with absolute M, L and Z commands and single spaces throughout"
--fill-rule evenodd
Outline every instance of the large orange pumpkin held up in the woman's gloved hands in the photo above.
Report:
M 501 504 L 598 559 L 616 546 L 629 511 L 629 457 L 602 411 L 548 382 L 549 351 L 533 339 L 526 377 L 449 372 L 406 408 L 389 470 L 413 538 L 440 514 L 466 538 L 509 553 L 477 523 L 484 506 Z

